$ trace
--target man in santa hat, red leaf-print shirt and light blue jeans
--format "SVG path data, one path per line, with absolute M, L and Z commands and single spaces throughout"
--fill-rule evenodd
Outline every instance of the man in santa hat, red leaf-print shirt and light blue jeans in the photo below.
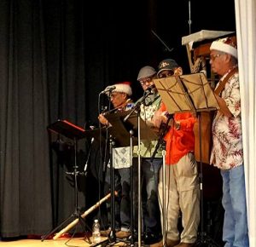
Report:
M 211 164 L 223 178 L 224 246 L 248 247 L 236 38 L 213 41 L 210 50 L 212 72 L 221 76 L 214 90 L 220 109 L 212 123 Z

